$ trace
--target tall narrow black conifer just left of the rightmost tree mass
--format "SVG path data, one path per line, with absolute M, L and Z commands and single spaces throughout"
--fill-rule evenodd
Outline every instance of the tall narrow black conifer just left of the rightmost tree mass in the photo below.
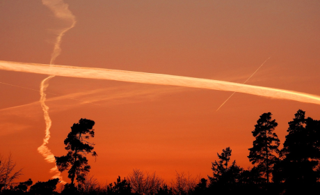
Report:
M 277 161 L 275 154 L 279 153 L 280 140 L 277 134 L 273 133 L 278 123 L 271 120 L 271 113 L 264 113 L 257 120 L 255 130 L 253 130 L 253 148 L 249 148 L 248 158 L 252 164 L 257 164 L 257 168 L 266 176 L 266 182 L 269 183 L 269 174 L 273 165 Z

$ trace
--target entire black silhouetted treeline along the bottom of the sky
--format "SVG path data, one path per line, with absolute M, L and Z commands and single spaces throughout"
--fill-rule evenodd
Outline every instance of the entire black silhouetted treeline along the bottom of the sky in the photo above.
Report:
M 252 168 L 243 169 L 231 161 L 232 149 L 227 147 L 217 153 L 208 178 L 177 173 L 175 180 L 166 184 L 156 173 L 134 169 L 127 178 L 119 176 L 109 185 L 101 185 L 88 175 L 90 165 L 84 155 L 97 156 L 92 152 L 94 144 L 87 141 L 94 137 L 95 122 L 81 118 L 65 139 L 67 155 L 56 157 L 58 169 L 69 170 L 70 184 L 57 189 L 58 178 L 35 184 L 31 179 L 15 183 L 22 170 L 13 171 L 15 163 L 9 155 L 0 158 L 0 194 L 319 194 L 320 121 L 306 118 L 305 111 L 298 110 L 288 123 L 288 134 L 280 149 L 275 133 L 278 123 L 271 116 L 270 112 L 259 116 L 252 131 L 255 140 L 248 149 Z

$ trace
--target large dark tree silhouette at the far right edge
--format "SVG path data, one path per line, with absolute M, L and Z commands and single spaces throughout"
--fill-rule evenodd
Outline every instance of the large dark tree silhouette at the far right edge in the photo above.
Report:
M 307 185 L 314 185 L 319 178 L 315 171 L 319 164 L 320 150 L 317 120 L 305 118 L 299 109 L 290 121 L 288 134 L 280 153 L 281 161 L 275 165 L 273 180 L 285 182 L 287 194 L 305 192 Z

